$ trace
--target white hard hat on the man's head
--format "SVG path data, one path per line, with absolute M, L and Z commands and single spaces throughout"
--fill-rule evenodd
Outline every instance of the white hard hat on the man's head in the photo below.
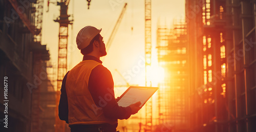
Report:
M 79 50 L 89 46 L 91 40 L 101 32 L 101 29 L 97 29 L 92 26 L 86 26 L 82 28 L 76 36 L 76 45 Z

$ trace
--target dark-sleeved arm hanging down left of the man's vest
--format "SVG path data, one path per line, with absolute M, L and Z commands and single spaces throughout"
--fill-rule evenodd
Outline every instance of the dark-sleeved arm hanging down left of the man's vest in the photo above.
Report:
M 68 72 L 69 73 L 69 72 Z M 65 75 L 65 77 L 62 80 L 62 85 L 60 89 L 60 99 L 59 99 L 59 119 L 66 121 L 66 123 L 69 123 L 69 105 L 68 105 L 68 96 L 66 93 L 66 80 L 68 73 Z

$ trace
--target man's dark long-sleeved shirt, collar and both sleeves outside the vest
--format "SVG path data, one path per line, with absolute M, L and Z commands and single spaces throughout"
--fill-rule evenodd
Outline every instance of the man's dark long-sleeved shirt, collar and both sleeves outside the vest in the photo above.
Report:
M 94 56 L 83 56 L 83 60 L 95 60 L 102 63 Z M 68 72 L 69 73 L 69 72 Z M 61 95 L 59 101 L 59 119 L 68 123 L 68 97 L 66 93 L 67 75 L 62 80 Z M 103 67 L 102 64 L 97 65 L 91 72 L 88 82 L 88 89 L 92 95 L 94 103 L 102 107 L 104 116 L 113 119 L 128 119 L 132 110 L 130 107 L 118 106 L 114 96 L 114 82 L 111 72 Z M 104 100 L 104 101 L 102 101 Z

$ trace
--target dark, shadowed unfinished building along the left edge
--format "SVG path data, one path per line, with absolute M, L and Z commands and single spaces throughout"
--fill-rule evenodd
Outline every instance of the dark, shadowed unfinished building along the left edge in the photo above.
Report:
M 0 131 L 54 131 L 56 97 L 47 75 L 50 55 L 41 45 L 43 4 L 0 2 L 0 93 L 5 97 L 0 101 Z M 2 89 L 4 79 L 7 89 Z

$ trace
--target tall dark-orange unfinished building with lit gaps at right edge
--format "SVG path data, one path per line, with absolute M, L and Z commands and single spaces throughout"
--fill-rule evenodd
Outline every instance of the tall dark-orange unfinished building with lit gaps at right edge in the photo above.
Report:
M 255 6 L 186 0 L 190 131 L 256 131 Z

